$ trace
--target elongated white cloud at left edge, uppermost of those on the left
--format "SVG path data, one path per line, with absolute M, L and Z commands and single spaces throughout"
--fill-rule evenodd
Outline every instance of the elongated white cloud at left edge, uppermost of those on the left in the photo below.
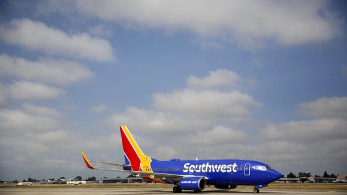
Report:
M 0 25 L 0 39 L 30 50 L 48 54 L 86 58 L 96 61 L 114 61 L 110 42 L 90 37 L 87 33 L 66 34 L 46 24 L 30 19 L 14 19 Z

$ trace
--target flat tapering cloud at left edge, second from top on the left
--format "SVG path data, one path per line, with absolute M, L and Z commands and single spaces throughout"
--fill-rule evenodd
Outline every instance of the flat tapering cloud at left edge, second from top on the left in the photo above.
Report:
M 0 74 L 43 83 L 71 84 L 94 76 L 84 65 L 51 58 L 29 61 L 0 55 Z

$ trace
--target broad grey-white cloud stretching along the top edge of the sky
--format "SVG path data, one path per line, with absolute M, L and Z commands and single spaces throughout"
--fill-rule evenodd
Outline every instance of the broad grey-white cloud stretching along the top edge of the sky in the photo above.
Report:
M 326 41 L 341 30 L 326 1 L 77 0 L 82 14 L 132 29 L 188 31 L 199 38 L 258 47 Z

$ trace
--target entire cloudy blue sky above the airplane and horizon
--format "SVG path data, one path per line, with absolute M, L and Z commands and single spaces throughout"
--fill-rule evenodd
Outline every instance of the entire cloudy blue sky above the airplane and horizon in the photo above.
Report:
M 0 180 L 159 160 L 347 173 L 343 0 L 2 0 Z

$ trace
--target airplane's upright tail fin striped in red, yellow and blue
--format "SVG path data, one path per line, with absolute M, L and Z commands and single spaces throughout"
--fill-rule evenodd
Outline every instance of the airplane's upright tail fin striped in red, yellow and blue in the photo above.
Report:
M 135 139 L 125 125 L 120 126 L 124 159 L 134 171 L 147 171 L 150 169 L 151 158 L 142 153 Z

